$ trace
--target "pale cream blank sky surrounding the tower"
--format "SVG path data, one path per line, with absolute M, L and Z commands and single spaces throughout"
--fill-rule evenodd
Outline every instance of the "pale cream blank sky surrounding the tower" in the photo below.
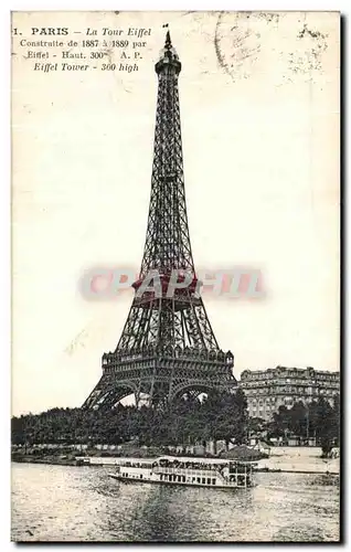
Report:
M 234 352 L 234 375 L 278 364 L 339 370 L 338 18 L 54 14 L 54 26 L 70 32 L 151 29 L 131 73 L 34 72 L 28 49 L 14 41 L 14 415 L 79 406 L 102 374 L 103 352 L 119 339 L 132 290 L 89 301 L 79 280 L 92 267 L 139 269 L 152 167 L 153 64 L 166 22 L 182 62 L 195 266 L 244 265 L 263 274 L 262 299 L 204 297 L 221 348 Z M 22 13 L 13 25 L 34 40 L 30 29 L 52 21 L 52 14 Z M 60 57 L 61 50 L 50 52 Z M 109 55 L 119 63 L 116 50 Z

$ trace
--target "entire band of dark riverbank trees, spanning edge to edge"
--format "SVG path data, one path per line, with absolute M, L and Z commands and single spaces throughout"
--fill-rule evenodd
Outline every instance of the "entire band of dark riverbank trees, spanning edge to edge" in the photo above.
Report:
M 117 405 L 100 412 L 81 408 L 53 408 L 38 415 L 12 418 L 12 443 L 66 443 L 118 445 L 138 438 L 140 445 L 194 444 L 225 440 L 242 444 L 252 434 L 266 439 L 295 435 L 316 437 L 325 454 L 339 444 L 339 397 L 331 406 L 320 397 L 311 404 L 301 402 L 291 408 L 280 406 L 273 420 L 247 416 L 242 390 L 236 394 L 217 393 L 199 399 L 182 399 L 168 411 L 147 406 Z

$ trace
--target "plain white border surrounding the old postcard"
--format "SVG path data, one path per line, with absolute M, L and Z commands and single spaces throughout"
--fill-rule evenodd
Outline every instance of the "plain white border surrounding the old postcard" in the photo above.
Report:
M 242 10 L 242 11 L 251 11 L 251 10 L 263 10 L 263 11 L 283 11 L 283 10 L 291 10 L 291 11 L 341 11 L 345 17 L 349 15 L 350 13 L 350 2 L 347 0 L 342 0 L 339 2 L 334 2 L 331 0 L 319 0 L 313 1 L 313 0 L 305 0 L 304 2 L 294 2 L 292 0 L 285 0 L 281 2 L 281 0 L 270 0 L 269 2 L 264 2 L 259 0 L 246 0 L 244 1 L 214 1 L 214 0 L 203 0 L 202 2 L 196 2 L 194 0 L 188 0 L 187 2 L 184 1 L 174 1 L 174 0 L 169 0 L 167 2 L 167 8 L 163 2 L 142 2 L 141 0 L 119 0 L 119 1 L 111 1 L 111 0 L 105 0 L 105 2 L 102 4 L 100 2 L 96 0 L 85 0 L 84 2 L 81 1 L 74 1 L 74 0 L 61 0 L 60 2 L 53 1 L 50 2 L 50 8 L 49 8 L 49 2 L 46 1 L 34 1 L 34 2 L 29 2 L 26 0 L 17 0 L 17 1 L 10 1 L 8 2 L 4 0 L 1 3 L 0 12 L 1 15 L 1 22 L 2 22 L 2 28 L 1 28 L 1 33 L 0 33 L 0 41 L 1 41 L 1 73 L 2 73 L 2 79 L 1 82 L 2 87 L 1 87 L 1 95 L 2 95 L 2 117 L 1 117 L 1 131 L 2 131 L 2 145 L 1 145 L 1 156 L 2 156 L 2 163 L 1 167 L 4 168 L 2 169 L 4 172 L 3 179 L 2 179 L 2 184 L 0 188 L 0 193 L 1 193 L 1 199 L 0 199 L 0 205 L 2 213 L 0 215 L 0 223 L 2 225 L 1 232 L 0 232 L 0 247 L 1 247 L 1 259 L 2 259 L 2 269 L 1 269 L 1 289 L 2 289 L 2 308 L 1 308 L 1 329 L 0 329 L 0 336 L 1 336 L 1 346 L 0 346 L 0 351 L 2 355 L 2 362 L 1 362 L 1 368 L 2 368 L 2 401 L 0 401 L 1 408 L 2 408 L 2 420 L 4 421 L 4 424 L 2 424 L 2 431 L 1 431 L 1 464 L 0 464 L 0 477 L 1 477 L 1 517 L 0 517 L 0 543 L 2 544 L 1 550 L 10 550 L 14 546 L 13 543 L 9 542 L 10 539 L 10 469 L 9 469 L 9 442 L 10 442 L 10 424 L 9 424 L 9 414 L 10 414 L 10 394 L 9 394 L 9 389 L 10 389 L 10 341 L 11 341 L 11 322 L 10 322 L 10 291 L 11 291 L 11 279 L 10 279 L 10 173 L 11 173 L 11 164 L 10 164 L 10 110 L 9 110 L 9 105 L 10 105 L 10 11 L 73 11 L 73 10 L 95 10 L 95 11 L 108 11 L 108 10 L 121 10 L 121 11 L 189 11 L 189 10 L 196 10 L 196 11 L 205 11 L 205 10 Z M 348 28 L 348 22 L 347 25 Z M 347 29 L 345 29 L 347 30 Z M 345 65 L 344 71 L 345 71 L 345 76 L 347 76 L 347 82 L 344 82 L 344 89 L 349 89 L 349 60 L 350 60 L 350 46 L 349 46 L 349 41 L 345 39 L 345 52 L 344 52 L 344 59 L 345 59 Z M 345 123 L 345 134 L 349 130 L 349 119 Z M 347 144 L 344 145 L 347 147 Z M 344 159 L 345 162 L 350 158 L 350 146 L 348 145 L 347 150 L 344 151 Z M 347 171 L 344 174 L 344 179 L 347 179 Z M 344 197 L 343 201 L 347 201 L 347 189 L 348 189 L 348 182 L 344 182 Z M 345 213 L 344 213 L 345 214 Z M 349 221 L 345 221 L 345 245 L 350 244 L 350 223 Z M 350 255 L 348 258 L 344 259 L 344 268 L 349 268 L 348 273 L 350 275 L 350 266 L 349 266 L 349 259 Z M 349 277 L 348 277 L 349 280 Z M 347 284 L 347 282 L 345 282 Z M 345 297 L 345 305 L 348 306 L 349 300 Z M 347 309 L 347 320 L 345 322 L 349 321 L 348 315 L 349 315 L 349 309 Z M 348 327 L 349 325 L 347 325 Z M 344 331 L 344 336 L 347 338 L 347 331 Z M 349 342 L 347 342 L 349 341 Z M 350 340 L 345 339 L 345 360 L 344 360 L 344 373 L 343 373 L 343 385 L 344 385 L 344 425 L 345 425 L 345 438 L 350 437 L 349 431 L 348 431 L 348 370 L 351 368 L 348 367 L 347 364 L 347 359 L 349 359 L 349 349 L 350 349 Z M 3 429 L 3 427 L 7 427 L 7 431 Z M 348 439 L 348 443 L 350 445 L 350 438 Z M 349 447 L 348 447 L 349 448 Z M 350 456 L 349 456 L 350 457 Z M 349 503 L 349 497 L 350 497 L 350 485 L 347 482 L 350 480 L 350 477 L 348 477 L 348 464 L 345 463 L 345 497 L 344 497 L 344 506 Z M 349 521 L 350 521 L 350 516 L 349 512 L 344 512 L 344 532 L 345 537 L 348 539 L 348 527 L 349 527 Z M 349 540 L 349 539 L 348 539 Z M 115 544 L 116 545 L 116 544 Z M 276 545 L 276 544 L 275 544 Z M 281 546 L 284 544 L 281 543 Z M 70 549 L 74 550 L 74 546 L 67 544 L 66 545 Z M 98 545 L 97 545 L 98 546 Z M 130 545 L 119 545 L 118 548 L 124 550 L 127 550 L 127 546 L 130 548 Z M 321 544 L 320 548 L 323 545 Z M 39 546 L 33 546 L 32 550 L 35 550 Z M 139 546 L 140 548 L 140 546 Z M 169 548 L 169 546 L 168 546 Z M 187 546 L 185 546 L 187 548 Z M 206 546 L 208 548 L 208 546 Z M 212 548 L 212 546 L 211 546 Z M 253 546 L 245 546 L 246 550 L 249 550 L 254 548 Z M 264 546 L 265 548 L 265 546 Z M 266 545 L 266 549 L 268 550 L 269 545 Z M 307 548 L 304 546 L 304 544 L 299 544 L 299 548 Z M 317 546 L 319 548 L 319 546 Z M 46 545 L 40 545 L 40 550 L 45 550 Z M 87 549 L 87 545 L 82 544 L 81 550 Z

